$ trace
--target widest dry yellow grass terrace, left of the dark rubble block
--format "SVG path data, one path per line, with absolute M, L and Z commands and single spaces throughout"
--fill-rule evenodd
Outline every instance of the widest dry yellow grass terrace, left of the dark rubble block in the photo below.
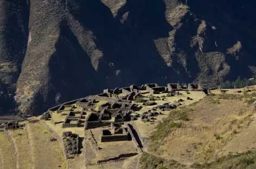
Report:
M 62 149 L 57 141 L 41 123 L 28 124 L 28 133 L 33 168 L 66 168 Z M 59 167 L 61 166 L 61 167 Z

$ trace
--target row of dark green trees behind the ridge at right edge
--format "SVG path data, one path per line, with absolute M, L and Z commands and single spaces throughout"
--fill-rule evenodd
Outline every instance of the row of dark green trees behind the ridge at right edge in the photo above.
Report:
M 248 79 L 241 79 L 238 77 L 235 81 L 225 81 L 221 83 L 220 88 L 222 89 L 232 89 L 232 88 L 244 88 L 246 86 L 256 85 L 256 80 L 248 80 Z

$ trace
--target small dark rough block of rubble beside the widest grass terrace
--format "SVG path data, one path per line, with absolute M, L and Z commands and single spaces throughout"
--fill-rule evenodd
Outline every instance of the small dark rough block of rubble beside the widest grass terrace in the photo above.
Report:
M 74 158 L 79 152 L 79 135 L 72 132 L 62 134 L 67 158 Z

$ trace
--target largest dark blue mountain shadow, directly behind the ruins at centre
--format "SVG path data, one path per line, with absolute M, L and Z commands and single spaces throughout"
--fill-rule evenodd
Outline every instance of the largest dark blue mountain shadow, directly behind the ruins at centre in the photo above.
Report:
M 71 10 L 85 29 L 95 35 L 97 48 L 103 51 L 98 74 L 107 77 L 109 88 L 131 83 L 175 81 L 176 73 L 166 66 L 153 40 L 168 37 L 172 30 L 165 18 L 163 1 L 129 0 L 114 18 L 99 0 L 75 1 L 79 9 Z M 119 19 L 129 12 L 123 24 Z M 108 66 L 114 63 L 114 69 Z M 120 70 L 120 75 L 115 71 Z

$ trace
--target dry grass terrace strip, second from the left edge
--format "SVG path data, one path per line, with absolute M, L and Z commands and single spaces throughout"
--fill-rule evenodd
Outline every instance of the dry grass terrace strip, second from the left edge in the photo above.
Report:
M 12 140 L 14 141 L 17 152 L 17 167 L 30 168 L 30 155 L 27 136 L 24 129 L 9 130 Z M 21 135 L 18 135 L 21 134 Z

